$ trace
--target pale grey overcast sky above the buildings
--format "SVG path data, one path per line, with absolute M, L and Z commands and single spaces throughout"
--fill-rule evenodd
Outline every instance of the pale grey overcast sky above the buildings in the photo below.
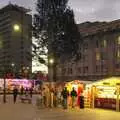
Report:
M 0 7 L 11 1 L 34 11 L 36 0 L 0 0 Z M 110 21 L 120 18 L 120 0 L 69 0 L 77 23 L 85 21 Z

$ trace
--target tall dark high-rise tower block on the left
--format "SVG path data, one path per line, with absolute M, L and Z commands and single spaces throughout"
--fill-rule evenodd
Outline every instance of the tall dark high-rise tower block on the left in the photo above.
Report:
M 0 9 L 0 70 L 31 70 L 32 16 L 30 10 L 9 4 Z

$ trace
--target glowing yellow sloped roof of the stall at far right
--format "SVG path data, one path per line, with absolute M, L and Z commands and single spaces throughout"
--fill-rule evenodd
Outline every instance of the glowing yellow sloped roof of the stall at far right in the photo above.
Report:
M 103 86 L 103 85 L 104 86 L 120 85 L 120 77 L 110 77 L 88 84 L 88 86 Z

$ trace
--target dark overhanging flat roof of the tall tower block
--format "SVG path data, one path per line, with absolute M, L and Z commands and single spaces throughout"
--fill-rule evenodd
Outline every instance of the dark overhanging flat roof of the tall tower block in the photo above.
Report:
M 10 10 L 15 10 L 15 11 L 24 12 L 24 13 L 27 13 L 27 12 L 31 11 L 30 9 L 26 9 L 24 7 L 18 6 L 16 4 L 14 5 L 14 4 L 10 3 L 6 6 L 4 6 L 3 8 L 1 8 L 0 12 L 3 13 L 3 12 L 6 12 L 6 11 L 10 11 Z

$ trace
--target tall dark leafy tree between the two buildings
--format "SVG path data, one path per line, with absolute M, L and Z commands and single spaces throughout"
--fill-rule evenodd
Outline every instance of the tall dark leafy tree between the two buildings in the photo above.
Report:
M 77 55 L 80 33 L 75 24 L 73 10 L 68 6 L 68 0 L 37 0 L 37 13 L 34 15 L 33 36 L 34 55 L 53 55 L 56 58 L 73 57 Z M 41 60 L 44 63 L 44 60 Z

